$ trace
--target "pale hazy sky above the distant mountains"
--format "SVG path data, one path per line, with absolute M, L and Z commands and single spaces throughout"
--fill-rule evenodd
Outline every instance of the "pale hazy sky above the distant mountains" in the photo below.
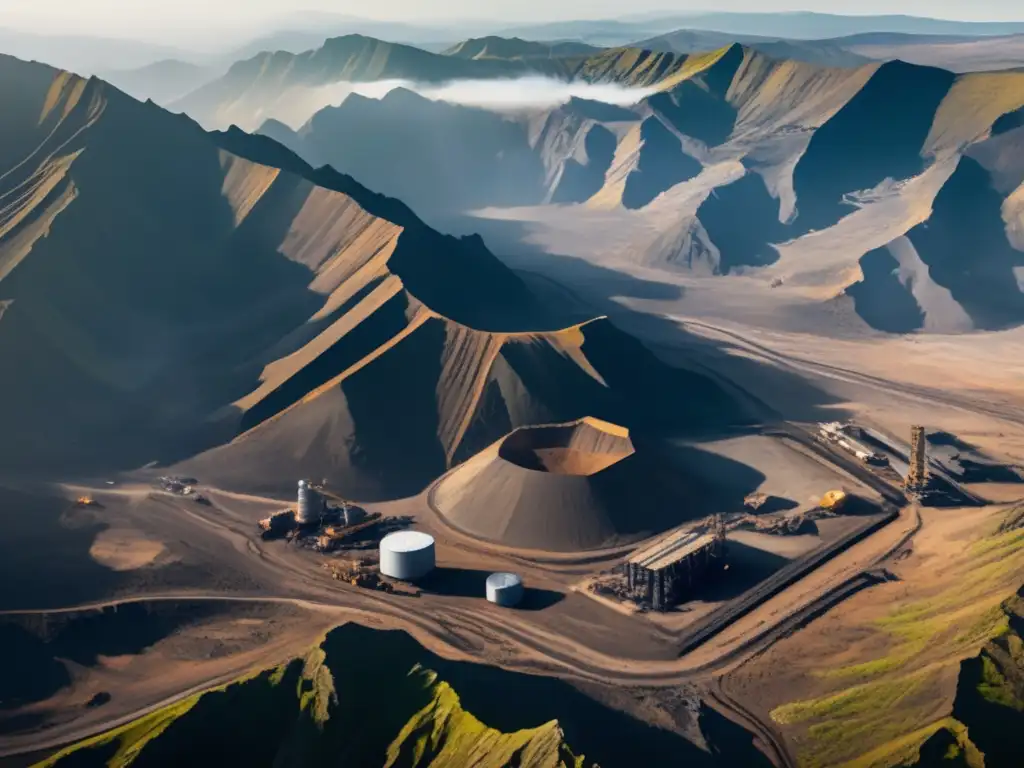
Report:
M 971 20 L 1024 19 L 1017 0 L 0 0 L 0 27 L 125 35 L 161 25 L 255 27 L 299 8 L 382 19 L 494 18 L 510 22 L 608 18 L 648 11 L 817 10 L 906 13 Z

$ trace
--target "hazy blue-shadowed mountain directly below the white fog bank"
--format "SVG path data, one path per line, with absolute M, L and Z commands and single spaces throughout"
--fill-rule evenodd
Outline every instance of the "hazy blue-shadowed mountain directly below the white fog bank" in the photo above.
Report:
M 431 214 L 587 200 L 614 153 L 600 122 L 609 117 L 637 120 L 584 99 L 502 115 L 396 88 L 381 99 L 352 94 L 298 131 L 268 121 L 259 132 Z

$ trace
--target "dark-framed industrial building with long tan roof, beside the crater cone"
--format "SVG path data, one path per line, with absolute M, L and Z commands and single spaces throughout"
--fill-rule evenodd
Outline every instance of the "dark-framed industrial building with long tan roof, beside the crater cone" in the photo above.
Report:
M 725 564 L 725 530 L 676 530 L 635 552 L 623 566 L 627 587 L 654 610 L 668 610 Z

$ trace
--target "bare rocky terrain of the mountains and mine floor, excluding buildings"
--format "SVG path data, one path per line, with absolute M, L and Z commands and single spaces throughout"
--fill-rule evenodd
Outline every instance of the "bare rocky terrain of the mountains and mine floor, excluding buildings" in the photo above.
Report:
M 1021 74 L 541 47 L 339 38 L 185 115 L 0 56 L 0 760 L 1014 765 Z M 421 67 L 643 95 L 194 121 Z M 436 569 L 261 537 L 299 478 Z M 711 521 L 681 605 L 592 589 Z

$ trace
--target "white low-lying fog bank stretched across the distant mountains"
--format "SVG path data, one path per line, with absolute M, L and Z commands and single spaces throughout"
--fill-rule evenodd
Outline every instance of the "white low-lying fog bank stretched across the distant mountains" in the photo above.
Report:
M 570 98 L 587 98 L 628 106 L 653 93 L 654 88 L 626 88 L 613 83 L 566 82 L 547 77 L 508 80 L 453 80 L 446 83 L 417 83 L 409 80 L 380 80 L 374 83 L 339 82 L 301 92 L 292 91 L 273 108 L 273 117 L 299 128 L 325 106 L 337 106 L 350 94 L 383 98 L 395 88 L 415 91 L 426 98 L 495 111 L 545 109 Z

